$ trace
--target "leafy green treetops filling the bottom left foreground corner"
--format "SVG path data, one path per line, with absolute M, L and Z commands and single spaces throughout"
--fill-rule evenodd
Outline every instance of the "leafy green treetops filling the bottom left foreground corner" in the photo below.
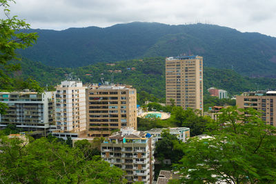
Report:
M 124 172 L 99 156 L 87 160 L 79 148 L 36 139 L 0 137 L 1 183 L 126 183 Z

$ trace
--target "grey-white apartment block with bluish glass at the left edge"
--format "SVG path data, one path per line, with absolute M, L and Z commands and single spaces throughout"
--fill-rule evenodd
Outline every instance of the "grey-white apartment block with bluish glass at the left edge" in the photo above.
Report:
M 0 127 L 12 123 L 23 131 L 42 131 L 55 119 L 55 92 L 0 92 L 0 102 L 6 103 L 6 114 L 0 114 Z

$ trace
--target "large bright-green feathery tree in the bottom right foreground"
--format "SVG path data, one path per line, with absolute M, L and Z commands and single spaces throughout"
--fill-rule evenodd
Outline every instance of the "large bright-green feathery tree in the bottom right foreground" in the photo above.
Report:
M 208 124 L 210 139 L 189 139 L 178 170 L 185 183 L 275 183 L 275 127 L 253 109 L 230 107 Z

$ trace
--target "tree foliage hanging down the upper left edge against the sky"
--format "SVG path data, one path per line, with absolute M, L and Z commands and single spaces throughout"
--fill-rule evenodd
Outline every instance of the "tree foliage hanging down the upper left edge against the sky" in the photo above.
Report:
M 0 0 L 0 8 L 6 19 L 0 19 L 0 90 L 14 90 L 14 88 L 29 88 L 41 92 L 41 88 L 37 82 L 29 79 L 23 83 L 17 83 L 12 74 L 20 70 L 20 65 L 14 63 L 19 60 L 17 57 L 17 49 L 25 49 L 37 41 L 37 33 L 25 33 L 22 30 L 30 28 L 30 25 L 17 16 L 10 17 L 9 3 L 13 0 Z M 17 83 L 17 85 L 15 85 Z M 7 106 L 0 103 L 0 113 L 5 113 Z

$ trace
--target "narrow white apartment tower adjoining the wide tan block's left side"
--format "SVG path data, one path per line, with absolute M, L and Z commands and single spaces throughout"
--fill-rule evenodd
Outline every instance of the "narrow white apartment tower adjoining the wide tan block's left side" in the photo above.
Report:
M 86 87 L 81 81 L 61 81 L 56 91 L 56 130 L 82 132 L 86 130 Z

